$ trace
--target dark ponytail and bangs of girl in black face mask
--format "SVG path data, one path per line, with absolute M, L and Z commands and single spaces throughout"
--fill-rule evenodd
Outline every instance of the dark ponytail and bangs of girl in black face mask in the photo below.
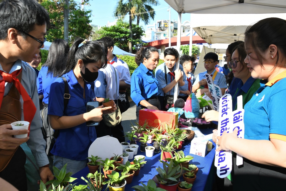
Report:
M 101 62 L 100 68 L 106 67 L 107 54 L 102 45 L 97 41 L 87 41 L 78 47 L 82 42 L 84 40 L 81 38 L 75 40 L 72 48 L 69 50 L 65 70 L 63 70 L 60 76 L 73 70 L 80 59 L 84 62 L 84 66 L 89 63 Z

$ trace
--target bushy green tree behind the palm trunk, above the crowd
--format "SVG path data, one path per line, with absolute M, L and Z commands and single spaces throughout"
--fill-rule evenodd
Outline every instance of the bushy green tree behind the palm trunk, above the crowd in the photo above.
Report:
M 142 26 L 132 24 L 132 27 L 133 39 L 130 39 L 130 30 L 128 22 L 118 20 L 116 22 L 116 25 L 114 26 L 101 27 L 101 29 L 97 30 L 92 36 L 92 40 L 97 40 L 104 36 L 109 36 L 113 38 L 114 44 L 118 48 L 128 52 L 129 42 L 132 43 L 132 46 L 135 45 L 137 42 L 142 44 L 141 37 L 144 35 L 145 32 Z

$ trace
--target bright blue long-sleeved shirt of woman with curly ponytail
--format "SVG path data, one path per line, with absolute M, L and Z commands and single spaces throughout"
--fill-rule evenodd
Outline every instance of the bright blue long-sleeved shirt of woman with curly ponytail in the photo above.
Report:
M 137 106 L 140 106 L 140 101 L 160 94 L 159 82 L 152 74 L 152 70 L 150 71 L 141 63 L 131 76 L 130 97 Z

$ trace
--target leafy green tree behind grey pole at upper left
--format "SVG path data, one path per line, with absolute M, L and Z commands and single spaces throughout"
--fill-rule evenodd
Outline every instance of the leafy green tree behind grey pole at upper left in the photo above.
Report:
M 52 42 L 57 38 L 63 39 L 63 9 L 64 0 L 39 0 L 39 3 L 47 9 L 51 25 L 48 26 L 47 41 Z M 82 5 L 89 5 L 88 0 L 80 3 L 77 0 L 69 0 L 69 42 L 76 37 L 88 39 L 92 26 L 90 25 L 91 10 L 82 8 Z

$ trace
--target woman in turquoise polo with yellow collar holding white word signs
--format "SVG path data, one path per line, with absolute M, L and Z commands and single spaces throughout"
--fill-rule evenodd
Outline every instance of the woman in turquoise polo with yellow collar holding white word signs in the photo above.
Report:
M 244 139 L 218 136 L 219 150 L 243 156 L 233 190 L 283 190 L 286 182 L 286 21 L 263 19 L 245 31 L 245 62 L 253 78 L 267 79 L 245 105 Z

